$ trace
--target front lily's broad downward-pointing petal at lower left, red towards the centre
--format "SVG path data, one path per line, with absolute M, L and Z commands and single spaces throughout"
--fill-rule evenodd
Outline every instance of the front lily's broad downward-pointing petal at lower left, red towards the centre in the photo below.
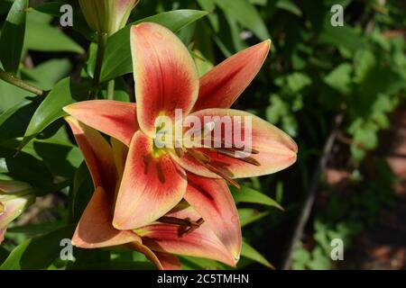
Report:
M 186 185 L 183 169 L 167 154 L 154 155 L 153 140 L 137 131 L 115 203 L 115 228 L 136 229 L 157 220 L 180 202 Z

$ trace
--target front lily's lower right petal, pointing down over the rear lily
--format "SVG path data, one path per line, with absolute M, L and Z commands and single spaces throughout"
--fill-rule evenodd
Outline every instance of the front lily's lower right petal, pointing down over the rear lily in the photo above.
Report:
M 188 173 L 188 188 L 184 199 L 198 211 L 217 238 L 238 259 L 241 252 L 240 220 L 226 182 Z

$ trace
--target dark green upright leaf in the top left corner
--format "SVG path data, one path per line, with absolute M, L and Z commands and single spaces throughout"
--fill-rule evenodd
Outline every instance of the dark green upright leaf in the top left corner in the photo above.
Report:
M 23 53 L 25 9 L 28 0 L 15 0 L 0 36 L 0 60 L 5 71 L 17 73 Z

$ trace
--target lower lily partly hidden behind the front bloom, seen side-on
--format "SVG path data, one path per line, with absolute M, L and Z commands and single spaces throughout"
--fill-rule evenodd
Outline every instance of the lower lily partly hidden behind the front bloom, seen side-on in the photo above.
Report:
M 66 121 L 85 157 L 95 186 L 95 192 L 72 238 L 74 246 L 96 248 L 127 245 L 142 252 L 159 269 L 180 268 L 175 255 L 207 257 L 235 266 L 236 259 L 225 243 L 185 201 L 150 225 L 138 229 L 116 229 L 113 226 L 116 193 L 125 170 L 128 148 L 116 139 L 112 139 L 110 145 L 97 130 L 70 116 L 66 117 Z M 221 202 L 224 198 L 219 195 L 213 201 Z M 234 202 L 232 199 L 229 201 L 230 207 L 218 211 L 218 217 L 228 217 L 229 210 L 235 211 Z

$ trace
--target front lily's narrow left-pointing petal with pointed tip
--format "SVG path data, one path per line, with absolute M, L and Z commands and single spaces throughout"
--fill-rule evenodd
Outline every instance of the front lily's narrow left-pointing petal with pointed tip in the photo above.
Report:
M 127 146 L 135 131 L 139 130 L 134 103 L 92 100 L 70 104 L 63 110 L 78 121 L 119 139 Z

